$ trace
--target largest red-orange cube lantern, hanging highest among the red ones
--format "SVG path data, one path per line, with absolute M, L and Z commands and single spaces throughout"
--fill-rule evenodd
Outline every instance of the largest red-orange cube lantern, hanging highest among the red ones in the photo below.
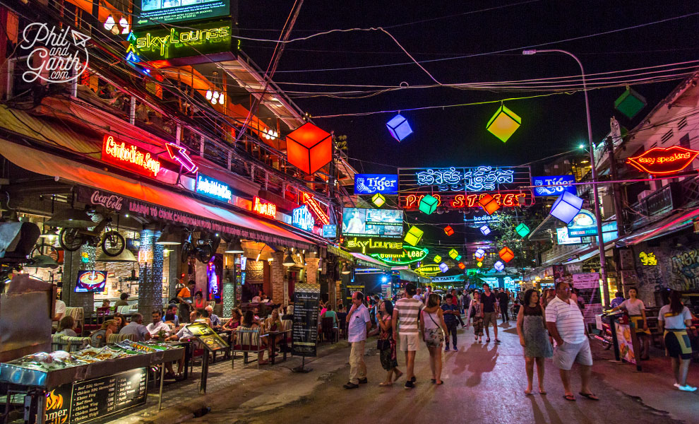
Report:
M 287 160 L 306 174 L 313 174 L 332 159 L 333 137 L 310 122 L 287 135 Z

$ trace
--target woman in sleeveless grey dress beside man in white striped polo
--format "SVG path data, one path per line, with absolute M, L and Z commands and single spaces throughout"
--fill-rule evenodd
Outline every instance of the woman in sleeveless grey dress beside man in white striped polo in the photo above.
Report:
M 549 337 L 546 335 L 546 322 L 544 308 L 539 303 L 539 292 L 530 288 L 525 293 L 524 305 L 517 314 L 517 334 L 520 336 L 520 345 L 524 348 L 525 368 L 527 370 L 527 389 L 525 394 L 532 394 L 534 380 L 534 362 L 537 363 L 537 375 L 539 377 L 539 393 L 546 394 L 544 390 L 544 358 L 554 355 Z

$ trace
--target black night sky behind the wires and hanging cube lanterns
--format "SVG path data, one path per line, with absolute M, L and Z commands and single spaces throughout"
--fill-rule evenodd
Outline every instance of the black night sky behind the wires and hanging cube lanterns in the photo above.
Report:
M 240 35 L 277 39 L 292 8 L 288 0 L 240 1 Z M 489 11 L 479 11 L 492 8 Z M 472 13 L 469 13 L 472 12 Z M 306 0 L 292 38 L 335 28 L 383 26 L 441 83 L 512 81 L 578 75 L 572 58 L 562 54 L 522 56 L 520 47 L 643 25 L 693 14 L 686 18 L 546 47 L 578 54 L 587 73 L 632 69 L 699 59 L 698 1 L 343 1 Z M 458 15 L 458 16 L 453 16 Z M 442 18 L 452 16 L 450 18 Z M 436 19 L 435 19 L 436 18 Z M 427 20 L 415 23 L 416 21 Z M 409 25 L 404 25 L 409 24 Z M 398 25 L 398 26 L 396 26 Z M 273 45 L 243 40 L 242 49 L 266 68 Z M 499 54 L 483 54 L 516 49 Z M 285 90 L 337 91 L 345 87 L 297 86 L 286 83 L 327 83 L 410 86 L 432 83 L 415 64 L 342 71 L 315 69 L 375 66 L 409 62 L 390 38 L 380 32 L 333 33 L 287 45 L 275 81 Z M 632 128 L 679 81 L 634 86 L 649 106 Z M 358 90 L 364 90 L 359 88 Z M 595 140 L 609 131 L 614 100 L 623 88 L 590 92 Z M 500 100 L 537 93 L 503 93 L 454 88 L 424 88 L 383 93 L 363 99 L 295 98 L 312 115 Z M 506 102 L 522 117 L 522 126 L 507 143 L 485 130 L 498 104 L 445 110 L 405 111 L 414 134 L 398 143 L 385 123 L 393 113 L 364 117 L 317 118 L 314 122 L 335 134 L 346 134 L 353 165 L 364 172 L 392 172 L 379 164 L 425 167 L 448 165 L 518 165 L 561 153 L 585 141 L 585 105 L 581 93 Z

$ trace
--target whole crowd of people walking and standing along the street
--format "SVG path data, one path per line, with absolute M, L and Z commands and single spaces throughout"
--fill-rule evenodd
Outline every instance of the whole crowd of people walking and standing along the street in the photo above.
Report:
M 511 307 L 510 307 L 511 305 Z M 544 387 L 544 361 L 551 358 L 558 368 L 563 398 L 576 401 L 570 384 L 570 370 L 575 363 L 580 372 L 578 395 L 584 399 L 597 401 L 599 398 L 590 387 L 592 350 L 587 325 L 582 310 L 584 300 L 569 283 L 558 282 L 555 288 L 522 290 L 511 293 L 509 290 L 491 290 L 484 284 L 482 290 L 450 290 L 441 296 L 430 286 L 422 291 L 412 283 L 392 299 L 370 296 L 361 292 L 352 293 L 352 307 L 347 312 L 349 354 L 349 381 L 345 389 L 356 389 L 366 384 L 366 364 L 364 351 L 366 338 L 378 335 L 377 348 L 381 366 L 386 370 L 386 379 L 379 383 L 382 387 L 392 386 L 405 374 L 405 388 L 412 389 L 417 383 L 415 377 L 415 355 L 424 343 L 429 351 L 431 383 L 443 384 L 442 351 L 458 349 L 457 329 L 473 327 L 475 343 L 489 343 L 490 326 L 493 327 L 494 343 L 498 339 L 498 316 L 503 323 L 510 320 L 510 312 L 516 319 L 517 334 L 525 357 L 527 387 L 525 395 L 533 394 L 534 365 L 537 367 L 539 394 L 546 394 Z M 636 290 L 629 290 L 629 298 L 616 302 L 614 309 L 623 309 L 637 322 L 638 333 L 647 331 L 645 307 L 636 298 Z M 462 317 L 462 315 L 464 315 Z M 662 307 L 659 321 L 664 329 L 667 355 L 671 358 L 676 379 L 675 387 L 682 391 L 695 391 L 687 384 L 688 366 L 691 360 L 691 345 L 686 330 L 691 326 L 691 313 L 680 301 L 678 292 L 670 296 L 669 305 Z M 371 329 L 376 326 L 374 331 Z M 648 347 L 644 343 L 644 353 Z M 398 352 L 405 356 L 405 372 L 399 368 Z

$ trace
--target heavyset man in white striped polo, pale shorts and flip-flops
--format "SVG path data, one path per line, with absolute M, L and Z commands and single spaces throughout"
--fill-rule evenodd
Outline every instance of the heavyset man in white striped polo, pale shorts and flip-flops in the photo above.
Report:
M 554 365 L 558 367 L 563 382 L 566 401 L 575 401 L 573 392 L 570 391 L 570 368 L 573 363 L 580 364 L 580 380 L 582 389 L 580 396 L 593 401 L 599 401 L 590 390 L 590 367 L 592 366 L 592 352 L 590 341 L 585 334 L 585 321 L 582 312 L 576 302 L 570 300 L 570 285 L 560 281 L 556 283 L 556 297 L 546 305 L 546 327 L 549 334 L 556 341 L 554 352 Z

